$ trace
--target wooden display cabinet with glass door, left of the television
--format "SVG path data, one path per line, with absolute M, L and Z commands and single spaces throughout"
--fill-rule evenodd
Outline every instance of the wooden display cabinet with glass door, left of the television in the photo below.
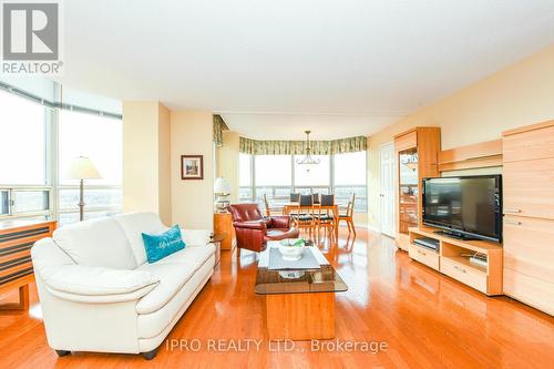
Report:
M 440 175 L 439 127 L 414 127 L 394 136 L 397 157 L 397 246 L 409 250 L 408 229 L 421 226 L 421 180 Z

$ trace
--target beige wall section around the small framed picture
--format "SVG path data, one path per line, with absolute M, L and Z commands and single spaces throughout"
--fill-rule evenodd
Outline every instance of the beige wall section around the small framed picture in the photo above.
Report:
M 173 222 L 213 229 L 214 150 L 212 112 L 171 112 Z M 204 180 L 181 180 L 181 155 L 204 155 Z

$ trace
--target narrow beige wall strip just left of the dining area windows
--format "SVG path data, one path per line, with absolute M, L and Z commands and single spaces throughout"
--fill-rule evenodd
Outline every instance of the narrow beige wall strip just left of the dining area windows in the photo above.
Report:
M 238 202 L 238 142 L 237 132 L 223 132 L 223 146 L 217 147 L 217 176 L 230 183 L 230 202 Z

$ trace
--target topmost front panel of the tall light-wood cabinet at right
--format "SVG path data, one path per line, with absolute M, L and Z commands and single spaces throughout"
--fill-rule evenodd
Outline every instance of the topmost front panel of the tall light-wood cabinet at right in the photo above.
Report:
M 554 126 L 504 136 L 502 152 L 504 162 L 554 157 Z

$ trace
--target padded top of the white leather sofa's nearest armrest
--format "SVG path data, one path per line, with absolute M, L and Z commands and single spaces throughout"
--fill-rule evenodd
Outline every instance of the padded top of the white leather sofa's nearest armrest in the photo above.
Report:
M 121 270 L 83 265 L 45 267 L 39 270 L 54 296 L 80 303 L 121 303 L 140 299 L 160 283 L 145 270 Z

